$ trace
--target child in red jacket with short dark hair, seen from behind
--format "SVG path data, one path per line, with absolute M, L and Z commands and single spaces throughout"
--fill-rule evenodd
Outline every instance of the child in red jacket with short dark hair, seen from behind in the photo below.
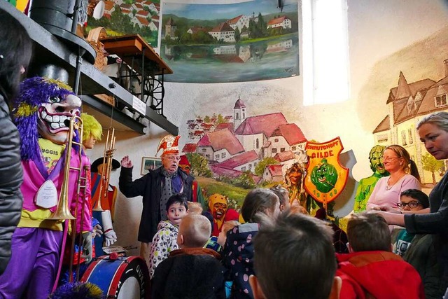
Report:
M 392 253 L 391 232 L 374 213 L 353 214 L 347 223 L 349 252 L 337 254 L 340 298 L 425 298 L 419 273 Z

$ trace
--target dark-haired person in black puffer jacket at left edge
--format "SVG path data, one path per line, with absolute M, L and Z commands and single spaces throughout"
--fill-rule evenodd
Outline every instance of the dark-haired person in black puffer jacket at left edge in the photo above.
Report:
M 20 137 L 8 105 L 31 59 L 32 41 L 20 22 L 0 9 L 0 274 L 11 256 L 11 237 L 22 210 Z M 15 254 L 15 253 L 14 253 Z

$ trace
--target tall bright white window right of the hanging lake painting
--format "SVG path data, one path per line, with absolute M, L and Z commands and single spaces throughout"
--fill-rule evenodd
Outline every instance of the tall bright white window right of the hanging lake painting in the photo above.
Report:
M 302 0 L 304 105 L 350 97 L 346 0 Z

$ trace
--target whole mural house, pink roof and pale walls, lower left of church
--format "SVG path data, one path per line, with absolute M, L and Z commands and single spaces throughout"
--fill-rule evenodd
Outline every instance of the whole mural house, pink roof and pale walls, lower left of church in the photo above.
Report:
M 209 161 L 222 162 L 243 153 L 244 148 L 230 130 L 219 130 L 204 134 L 197 142 L 196 152 Z

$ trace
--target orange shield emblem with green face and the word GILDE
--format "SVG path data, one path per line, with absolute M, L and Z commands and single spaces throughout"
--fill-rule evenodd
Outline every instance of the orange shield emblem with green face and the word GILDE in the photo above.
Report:
M 339 162 L 339 154 L 343 149 L 339 137 L 323 144 L 308 141 L 305 146 L 309 164 L 304 188 L 318 202 L 327 204 L 344 190 L 349 169 Z

